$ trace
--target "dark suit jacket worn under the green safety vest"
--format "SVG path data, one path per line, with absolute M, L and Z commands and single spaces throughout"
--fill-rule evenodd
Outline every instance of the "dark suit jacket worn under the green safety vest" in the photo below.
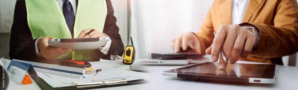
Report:
M 78 2 L 78 1 L 77 1 Z M 119 28 L 116 25 L 116 17 L 110 0 L 107 2 L 107 16 L 103 33 L 107 34 L 111 40 L 111 47 L 107 55 L 99 50 L 96 50 L 98 56 L 102 59 L 110 60 L 110 55 L 122 55 L 124 51 L 123 43 L 119 35 Z M 33 40 L 31 31 L 27 22 L 27 11 L 25 0 L 17 0 L 15 4 L 15 12 L 13 17 L 13 25 L 10 36 L 10 51 L 11 59 L 27 60 L 33 62 L 47 61 L 44 57 L 38 59 L 35 53 L 35 41 Z

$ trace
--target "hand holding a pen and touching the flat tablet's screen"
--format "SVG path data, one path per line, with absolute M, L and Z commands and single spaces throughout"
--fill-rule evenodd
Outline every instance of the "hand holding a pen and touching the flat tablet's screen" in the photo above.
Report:
M 224 57 L 221 57 L 218 68 L 226 69 L 228 61 L 234 64 L 239 57 L 246 58 L 252 51 L 255 41 L 256 37 L 252 29 L 243 28 L 237 24 L 223 24 L 218 28 L 212 45 L 206 49 L 206 54 L 211 54 L 212 61 L 217 62 L 218 57 L 221 57 L 220 51 L 224 52 L 226 62 Z

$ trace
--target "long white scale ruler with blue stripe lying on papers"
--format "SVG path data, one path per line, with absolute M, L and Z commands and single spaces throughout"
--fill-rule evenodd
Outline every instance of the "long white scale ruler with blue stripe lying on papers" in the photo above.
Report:
M 72 78 L 83 78 L 83 75 L 85 74 L 85 70 L 83 68 L 51 65 L 51 64 L 45 64 L 45 63 L 30 62 L 30 61 L 15 60 L 15 59 L 13 60 L 31 64 L 35 69 L 35 71 L 43 72 L 43 73 L 62 75 L 62 76 L 72 77 Z

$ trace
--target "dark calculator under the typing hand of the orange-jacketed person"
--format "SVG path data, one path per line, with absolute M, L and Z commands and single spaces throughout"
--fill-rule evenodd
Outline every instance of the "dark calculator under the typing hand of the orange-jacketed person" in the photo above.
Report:
M 151 53 L 151 58 L 159 59 L 159 60 L 187 60 L 187 59 L 202 58 L 202 55 L 199 53 L 193 53 L 193 52 L 179 52 L 179 53 L 166 53 L 166 54 Z

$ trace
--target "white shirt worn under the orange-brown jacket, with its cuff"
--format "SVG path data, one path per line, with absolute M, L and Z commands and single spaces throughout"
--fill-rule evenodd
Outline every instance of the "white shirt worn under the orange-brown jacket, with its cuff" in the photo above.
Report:
M 233 0 L 232 4 L 232 24 L 240 24 L 243 20 L 243 15 L 247 7 L 249 0 Z M 260 38 L 260 31 L 253 29 L 254 35 L 256 36 L 256 42 L 254 47 L 257 48 Z

